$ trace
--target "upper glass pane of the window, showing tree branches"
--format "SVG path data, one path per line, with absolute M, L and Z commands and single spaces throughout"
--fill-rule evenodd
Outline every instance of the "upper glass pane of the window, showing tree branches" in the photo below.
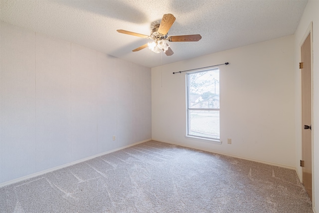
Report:
M 219 69 L 188 74 L 188 107 L 219 109 Z

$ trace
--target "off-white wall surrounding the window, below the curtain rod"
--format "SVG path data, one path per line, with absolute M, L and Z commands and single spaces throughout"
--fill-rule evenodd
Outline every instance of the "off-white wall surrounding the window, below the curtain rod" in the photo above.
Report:
M 223 143 L 185 138 L 185 72 L 172 72 L 225 62 L 219 66 Z M 294 168 L 294 98 L 294 36 L 154 67 L 152 138 Z

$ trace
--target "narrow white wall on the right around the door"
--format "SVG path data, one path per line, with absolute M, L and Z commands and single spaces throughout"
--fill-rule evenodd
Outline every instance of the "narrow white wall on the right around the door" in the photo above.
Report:
M 302 169 L 299 166 L 299 160 L 302 159 L 302 136 L 301 136 L 301 71 L 298 67 L 301 62 L 300 48 L 304 36 L 307 33 L 309 25 L 313 22 L 313 142 L 314 142 L 314 212 L 319 213 L 319 1 L 310 0 L 305 8 L 302 19 L 295 32 L 295 105 L 296 105 L 296 161 L 299 176 L 302 177 Z

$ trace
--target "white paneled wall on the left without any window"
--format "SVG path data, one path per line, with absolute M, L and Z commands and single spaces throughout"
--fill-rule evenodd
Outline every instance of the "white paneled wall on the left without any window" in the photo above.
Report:
M 148 139 L 150 68 L 1 22 L 0 184 Z

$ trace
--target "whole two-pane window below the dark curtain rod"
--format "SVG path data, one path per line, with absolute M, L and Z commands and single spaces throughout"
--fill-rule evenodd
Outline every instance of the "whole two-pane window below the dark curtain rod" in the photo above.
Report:
M 187 136 L 219 141 L 219 69 L 186 76 Z

